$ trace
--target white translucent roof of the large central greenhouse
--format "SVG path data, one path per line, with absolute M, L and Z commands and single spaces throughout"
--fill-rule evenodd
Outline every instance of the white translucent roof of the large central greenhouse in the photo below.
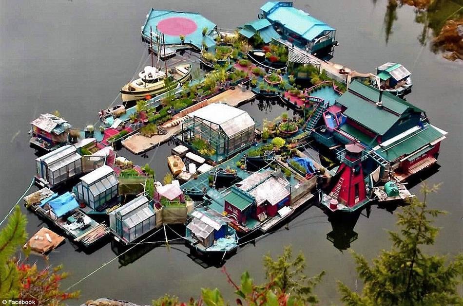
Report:
M 193 111 L 189 116 L 211 122 L 213 129 L 218 130 L 220 127 L 229 137 L 255 126 L 254 120 L 246 111 L 225 103 L 212 103 Z

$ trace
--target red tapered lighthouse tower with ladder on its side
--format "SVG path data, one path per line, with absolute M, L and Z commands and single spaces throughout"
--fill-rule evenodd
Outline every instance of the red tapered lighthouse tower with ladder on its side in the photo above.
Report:
M 339 180 L 329 193 L 334 200 L 330 202 L 331 210 L 339 209 L 339 203 L 351 211 L 368 201 L 361 163 L 363 149 L 359 144 L 346 145 L 346 156 L 336 175 Z

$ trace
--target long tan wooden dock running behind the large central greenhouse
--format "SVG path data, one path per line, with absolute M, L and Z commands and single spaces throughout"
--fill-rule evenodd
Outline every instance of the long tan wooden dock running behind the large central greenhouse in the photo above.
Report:
M 140 133 L 127 137 L 121 142 L 121 144 L 130 152 L 135 155 L 142 154 L 151 150 L 152 148 L 167 142 L 172 136 L 177 134 L 182 129 L 182 124 L 171 126 L 170 123 L 175 120 L 179 120 L 181 117 L 185 117 L 189 113 L 198 109 L 198 105 L 205 107 L 212 103 L 223 102 L 232 107 L 238 107 L 243 105 L 255 98 L 255 94 L 251 90 L 243 90 L 241 87 L 235 87 L 234 89 L 225 90 L 207 100 L 203 100 L 189 108 L 182 110 L 179 114 L 176 114 L 171 121 L 166 122 L 163 128 L 167 131 L 164 135 L 154 135 L 152 137 L 145 137 Z

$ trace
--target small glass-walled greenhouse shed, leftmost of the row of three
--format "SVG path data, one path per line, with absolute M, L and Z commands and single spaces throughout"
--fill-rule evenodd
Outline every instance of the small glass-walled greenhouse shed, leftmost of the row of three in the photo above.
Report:
M 74 145 L 62 146 L 36 159 L 36 178 L 53 188 L 82 173 L 81 158 Z

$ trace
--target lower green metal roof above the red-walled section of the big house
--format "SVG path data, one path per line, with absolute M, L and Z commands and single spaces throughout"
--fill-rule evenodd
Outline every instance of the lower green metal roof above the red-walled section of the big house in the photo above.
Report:
M 411 135 L 406 135 L 403 139 L 398 139 L 376 151 L 388 161 L 393 162 L 399 157 L 411 154 L 443 136 L 444 134 L 439 129 L 431 125 L 426 125 Z

